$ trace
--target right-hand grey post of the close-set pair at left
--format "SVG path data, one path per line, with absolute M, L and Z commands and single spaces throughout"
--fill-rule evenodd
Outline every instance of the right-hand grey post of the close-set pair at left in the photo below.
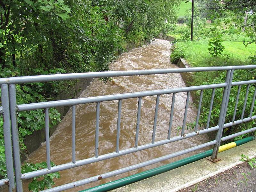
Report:
M 14 157 L 14 170 L 16 191 L 22 192 L 22 180 L 21 180 L 21 164 L 20 164 L 20 140 L 19 129 L 17 124 L 17 111 L 16 111 L 16 85 L 9 85 L 9 102 L 10 102 L 10 115 L 12 126 L 12 148 Z

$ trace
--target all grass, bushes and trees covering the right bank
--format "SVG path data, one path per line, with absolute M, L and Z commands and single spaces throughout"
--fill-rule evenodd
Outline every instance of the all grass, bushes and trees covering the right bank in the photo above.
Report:
M 173 63 L 177 63 L 180 58 L 185 58 L 191 67 L 249 65 L 256 63 L 256 46 L 254 44 L 256 42 L 255 1 L 196 1 L 194 17 L 195 41 L 193 42 L 189 41 L 191 9 L 181 16 L 183 17 L 182 23 L 184 24 L 176 25 L 174 30 L 169 32 L 169 34 L 179 37 L 173 42 L 171 50 L 170 59 Z M 208 23 L 206 22 L 207 20 Z M 194 80 L 190 84 L 223 83 L 225 76 L 226 72 L 195 73 L 193 74 Z M 252 80 L 255 78 L 256 70 L 236 70 L 233 75 L 233 81 Z M 231 122 L 233 119 L 237 89 L 238 86 L 231 88 L 226 123 Z M 241 118 L 246 89 L 246 85 L 241 86 L 235 120 Z M 255 84 L 251 84 L 248 99 L 246 100 L 244 117 L 248 117 L 250 114 L 254 90 Z M 193 95 L 199 98 L 199 94 L 200 92 L 195 92 Z M 216 89 L 210 126 L 217 125 L 218 123 L 222 95 L 223 89 Z M 199 124 L 204 126 L 207 123 L 211 96 L 212 90 L 204 90 L 199 120 Z M 254 102 L 255 105 L 256 101 Z M 256 109 L 254 107 L 252 115 L 255 115 L 255 113 Z M 193 128 L 194 126 L 195 122 L 188 124 L 187 128 Z M 254 126 L 255 122 L 251 121 L 225 128 L 223 136 Z M 255 135 L 255 132 L 251 134 Z M 235 139 L 241 139 L 246 135 L 236 137 Z

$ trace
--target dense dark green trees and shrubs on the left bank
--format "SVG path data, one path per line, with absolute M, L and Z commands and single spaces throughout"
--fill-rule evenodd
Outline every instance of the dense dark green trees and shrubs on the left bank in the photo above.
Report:
M 179 0 L 3 0 L 0 77 L 107 71 L 117 52 L 125 51 L 128 44 L 142 45 L 169 31 L 178 4 Z M 16 85 L 17 103 L 53 100 L 74 83 Z M 51 127 L 61 120 L 53 108 L 49 117 Z M 18 127 L 24 153 L 24 137 L 44 127 L 43 110 L 20 112 Z M 0 116 L 0 178 L 6 176 L 4 150 Z M 33 180 L 37 187 L 30 189 L 51 187 L 53 183 L 44 184 L 46 180 L 40 185 Z

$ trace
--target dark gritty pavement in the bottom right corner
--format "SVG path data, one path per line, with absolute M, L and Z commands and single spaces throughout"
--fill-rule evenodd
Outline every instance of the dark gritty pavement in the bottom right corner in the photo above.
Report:
M 256 168 L 251 168 L 247 162 L 237 165 L 225 172 L 203 180 L 179 192 L 256 192 Z

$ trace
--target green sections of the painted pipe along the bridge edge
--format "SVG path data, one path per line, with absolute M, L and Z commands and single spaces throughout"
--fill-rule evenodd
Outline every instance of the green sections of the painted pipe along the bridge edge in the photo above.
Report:
M 253 136 L 251 136 L 251 137 L 247 137 L 247 138 L 235 141 L 235 143 L 236 143 L 236 146 L 238 146 L 238 145 L 242 145 L 244 143 L 247 143 L 249 141 L 252 141 L 254 139 L 255 138 Z M 175 161 L 175 162 L 170 163 L 170 164 L 166 164 L 166 165 L 154 168 L 154 169 L 150 169 L 148 171 L 137 173 L 135 175 L 124 177 L 122 179 L 111 181 L 111 182 L 108 182 L 108 183 L 105 183 L 105 184 L 102 184 L 102 185 L 99 185 L 99 186 L 96 186 L 96 187 L 85 189 L 85 190 L 80 191 L 80 192 L 106 192 L 106 191 L 113 190 L 113 189 L 116 189 L 116 188 L 119 188 L 119 187 L 123 187 L 123 186 L 131 184 L 131 183 L 135 183 L 135 182 L 140 181 L 140 180 L 147 179 L 149 177 L 153 177 L 155 175 L 170 171 L 172 169 L 181 167 L 183 165 L 193 163 L 195 161 L 198 161 L 200 159 L 203 159 L 203 158 L 211 156 L 211 155 L 212 155 L 212 149 L 208 150 L 208 151 L 205 151 L 203 153 L 199 153 L 199 154 L 181 159 L 179 161 Z

